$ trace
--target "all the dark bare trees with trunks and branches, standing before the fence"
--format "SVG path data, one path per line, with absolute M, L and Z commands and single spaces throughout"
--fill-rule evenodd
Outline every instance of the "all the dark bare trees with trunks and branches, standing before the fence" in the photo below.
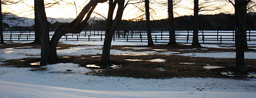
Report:
M 98 3 L 105 3 L 108 2 L 109 8 L 108 8 L 108 16 L 105 17 L 105 40 L 103 44 L 103 51 L 102 51 L 102 60 L 101 63 L 99 63 L 99 66 L 111 66 L 110 61 L 110 49 L 111 49 L 111 41 L 113 38 L 113 33 L 116 29 L 118 29 L 118 26 L 120 26 L 120 23 L 123 21 L 122 15 L 124 12 L 125 7 L 128 4 L 135 4 L 132 2 L 133 0 L 90 0 L 87 5 L 84 6 L 84 8 L 81 10 L 81 12 L 77 15 L 76 19 L 73 20 L 71 23 L 63 24 L 56 29 L 54 35 L 52 36 L 51 40 L 49 39 L 49 22 L 47 21 L 47 16 L 45 12 L 45 2 L 44 0 L 34 0 L 35 3 L 35 41 L 34 43 L 41 44 L 41 63 L 42 65 L 45 64 L 51 64 L 51 63 L 58 63 L 61 62 L 61 59 L 58 58 L 56 47 L 58 44 L 59 39 L 61 36 L 67 34 L 67 33 L 73 33 L 77 34 L 80 33 L 85 27 L 89 26 L 89 18 L 91 14 L 93 13 L 93 10 L 97 6 Z M 175 24 L 175 18 L 174 18 L 174 6 L 175 2 L 177 0 L 166 0 L 168 6 L 168 19 L 165 20 L 165 22 L 159 22 L 159 24 L 163 24 L 167 26 L 166 28 L 169 29 L 169 43 L 168 45 L 177 45 L 175 40 L 175 26 L 179 26 L 178 23 L 180 23 L 181 20 L 176 20 Z M 180 0 L 178 0 L 180 1 Z M 207 6 L 202 6 L 209 1 L 214 2 L 215 0 L 205 0 L 206 2 L 200 3 L 198 0 L 194 0 L 194 15 L 193 16 L 184 16 L 181 18 L 187 18 L 191 19 L 191 21 L 185 20 L 184 22 L 191 22 L 191 23 L 180 23 L 180 26 L 188 27 L 193 29 L 193 41 L 192 46 L 194 47 L 201 47 L 201 44 L 198 41 L 198 29 L 202 25 L 208 25 L 211 26 L 218 26 L 219 23 L 209 23 L 204 24 L 204 21 L 202 20 L 208 20 L 209 18 L 202 18 L 203 16 L 199 15 L 198 12 L 202 11 L 215 11 L 218 9 L 221 9 L 221 6 L 215 7 L 214 9 L 207 9 Z M 57 2 L 57 1 L 56 1 Z M 61 0 L 59 1 L 61 2 Z M 145 21 L 144 26 L 145 29 L 147 29 L 147 37 L 148 37 L 148 46 L 154 46 L 154 43 L 152 41 L 151 37 L 151 28 L 153 21 L 150 21 L 150 17 L 152 14 L 152 7 L 149 5 L 150 2 L 154 2 L 154 0 L 137 0 L 137 3 L 142 4 L 143 6 L 136 6 L 140 11 L 144 14 L 140 15 L 145 16 L 142 19 Z M 239 75 L 245 75 L 247 74 L 244 66 L 244 49 L 248 49 L 247 47 L 247 41 L 246 41 L 246 29 L 247 29 L 247 11 L 252 9 L 253 6 L 248 6 L 248 4 L 252 4 L 252 0 L 227 0 L 227 2 L 231 3 L 234 6 L 235 9 L 235 16 L 234 20 L 235 25 L 233 28 L 235 29 L 235 35 L 236 35 L 236 74 Z M 53 3 L 54 4 L 54 3 Z M 253 3 L 255 4 L 255 3 Z M 117 11 L 115 12 L 115 9 Z M 102 9 L 103 11 L 104 9 Z M 253 9 L 252 9 L 253 10 Z M 114 16 L 115 13 L 115 17 Z M 138 18 L 140 18 L 138 17 Z M 255 17 L 255 16 L 254 16 Z M 232 19 L 232 18 L 230 18 Z M 218 21 L 219 19 L 216 19 L 215 21 Z M 129 21 L 128 21 L 129 22 Z M 142 21 L 143 22 L 143 21 Z M 140 23 L 140 22 L 138 22 Z M 255 23 L 255 22 L 254 22 Z M 157 23 L 158 24 L 158 23 Z M 157 25 L 155 24 L 155 25 Z M 214 25 L 215 24 L 215 25 Z M 2 22 L 1 22 L 1 28 L 2 28 Z M 125 25 L 123 25 L 125 26 Z M 90 26 L 91 27 L 91 26 Z M 232 26 L 231 26 L 232 27 Z M 120 27 L 119 27 L 120 28 Z M 1 43 L 3 43 L 3 33 L 1 29 Z

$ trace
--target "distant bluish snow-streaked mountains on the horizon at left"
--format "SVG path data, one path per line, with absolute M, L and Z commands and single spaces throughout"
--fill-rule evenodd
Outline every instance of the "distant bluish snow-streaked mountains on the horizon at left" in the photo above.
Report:
M 47 20 L 50 23 L 55 23 L 56 21 L 58 21 L 59 23 L 70 23 L 74 19 L 73 18 L 47 17 Z M 103 18 L 96 17 L 95 20 L 103 20 Z M 35 24 L 35 19 L 27 18 L 27 17 L 19 17 L 12 13 L 4 13 L 3 14 L 3 23 L 9 24 L 10 27 L 12 27 L 12 26 L 32 26 Z

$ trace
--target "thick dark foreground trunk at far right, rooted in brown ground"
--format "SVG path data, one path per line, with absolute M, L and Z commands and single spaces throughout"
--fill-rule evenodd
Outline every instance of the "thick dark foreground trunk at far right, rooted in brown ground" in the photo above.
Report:
M 235 0 L 235 43 L 236 43 L 236 72 L 235 74 L 246 75 L 247 72 L 244 66 L 244 35 L 243 32 L 246 29 L 244 26 L 246 21 L 246 0 Z M 246 30 L 245 30 L 246 31 Z

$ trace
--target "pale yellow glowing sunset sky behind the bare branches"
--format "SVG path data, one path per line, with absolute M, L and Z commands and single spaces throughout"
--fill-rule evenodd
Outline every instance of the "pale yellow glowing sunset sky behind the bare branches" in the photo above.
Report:
M 51 2 L 51 0 L 45 0 L 46 2 Z M 65 0 L 67 2 L 73 3 L 73 0 Z M 81 11 L 81 9 L 88 3 L 85 2 L 86 0 L 75 0 L 78 12 Z M 158 0 L 158 1 L 163 1 L 163 0 Z M 166 0 L 167 1 L 167 0 Z M 179 14 L 180 16 L 183 15 L 192 15 L 193 11 L 187 9 L 186 7 L 193 8 L 194 4 L 192 2 L 193 0 L 182 0 L 178 5 L 176 6 L 177 8 L 174 9 L 174 12 Z M 204 0 L 202 0 L 204 1 Z M 126 1 L 127 2 L 127 1 Z M 125 2 L 125 3 L 126 3 Z M 133 2 L 136 2 L 133 1 Z M 199 0 L 200 2 L 200 0 Z M 24 4 L 25 3 L 25 4 Z M 18 3 L 14 5 L 3 5 L 3 12 L 11 12 L 13 14 L 17 14 L 20 17 L 29 17 L 29 18 L 34 18 L 34 11 L 32 6 L 34 5 L 34 0 L 25 0 L 24 3 Z M 144 4 L 144 3 L 142 3 Z M 223 3 L 216 2 L 215 6 L 219 5 L 224 5 Z M 215 7 L 214 6 L 214 7 Z M 140 7 L 140 6 L 138 6 Z M 154 17 L 154 20 L 158 19 L 165 19 L 168 17 L 167 15 L 167 6 L 163 5 L 157 5 L 157 4 L 151 4 L 151 8 L 155 10 L 156 14 L 151 13 L 152 17 Z M 99 14 L 104 14 L 107 16 L 108 14 L 108 3 L 99 3 L 96 6 L 96 9 L 94 12 L 97 12 Z M 200 12 L 199 14 L 219 14 L 221 12 L 226 12 L 226 13 L 234 13 L 233 6 L 229 3 L 226 3 L 226 6 L 218 11 L 215 12 Z M 46 9 L 46 14 L 47 17 L 53 17 L 53 18 L 76 18 L 76 8 L 73 5 L 55 5 L 53 8 L 47 8 Z M 124 15 L 122 19 L 128 20 L 128 19 L 133 19 L 137 16 L 140 16 L 141 12 L 139 9 L 135 8 L 134 5 L 130 4 L 128 5 L 125 10 L 124 10 Z M 178 15 L 175 14 L 175 17 Z M 95 16 L 96 14 L 92 14 L 92 17 Z M 96 17 L 100 17 L 99 15 Z M 152 20 L 152 19 L 151 19 Z

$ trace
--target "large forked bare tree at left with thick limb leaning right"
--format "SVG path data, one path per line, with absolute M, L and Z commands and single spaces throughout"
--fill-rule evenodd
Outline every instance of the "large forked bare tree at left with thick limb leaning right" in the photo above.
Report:
M 107 0 L 90 0 L 90 2 L 84 6 L 82 11 L 79 13 L 79 15 L 76 17 L 75 20 L 73 20 L 71 23 L 68 23 L 64 26 L 60 26 L 52 36 L 52 39 L 49 40 L 49 27 L 46 25 L 47 19 L 45 16 L 45 12 L 43 10 L 44 6 L 42 3 L 43 0 L 35 0 L 40 3 L 41 6 L 40 12 L 36 13 L 38 14 L 36 17 L 39 17 L 40 26 L 42 29 L 41 33 L 41 63 L 40 64 L 50 64 L 54 62 L 58 62 L 58 56 L 56 52 L 56 46 L 58 44 L 58 40 L 62 37 L 62 35 L 65 35 L 67 33 L 73 33 L 78 34 L 80 33 L 85 26 L 88 26 L 87 21 L 90 18 L 90 15 L 92 14 L 93 10 L 95 9 L 96 5 L 98 3 L 104 3 Z M 87 16 L 85 17 L 85 15 Z M 85 18 L 84 18 L 85 17 Z M 84 20 L 83 20 L 84 19 Z M 47 32 L 48 31 L 48 32 Z

